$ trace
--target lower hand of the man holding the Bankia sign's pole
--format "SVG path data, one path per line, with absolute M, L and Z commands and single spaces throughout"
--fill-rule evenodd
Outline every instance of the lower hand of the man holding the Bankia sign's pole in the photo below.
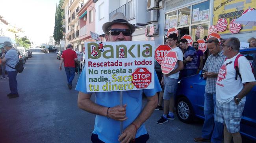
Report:
M 136 127 L 132 124 L 130 124 L 124 132 L 122 132 L 121 136 L 119 136 L 118 141 L 121 141 L 121 143 L 130 143 L 132 139 L 135 139 L 136 136 Z

